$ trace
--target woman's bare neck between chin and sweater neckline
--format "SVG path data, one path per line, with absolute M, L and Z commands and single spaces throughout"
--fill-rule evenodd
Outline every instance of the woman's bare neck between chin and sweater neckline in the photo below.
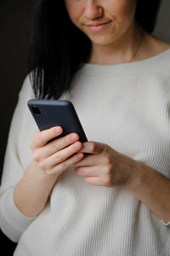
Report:
M 141 41 L 143 29 L 135 22 L 111 44 L 95 44 L 92 42 L 92 51 L 88 63 L 99 65 L 114 65 L 126 63 L 131 60 Z M 138 60 L 137 55 L 133 61 Z

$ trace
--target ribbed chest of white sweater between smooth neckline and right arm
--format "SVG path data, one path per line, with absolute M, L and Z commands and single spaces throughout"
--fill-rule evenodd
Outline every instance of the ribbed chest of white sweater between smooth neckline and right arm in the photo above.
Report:
M 95 84 L 92 80 L 91 83 L 82 80 L 71 91 L 70 100 L 88 141 L 106 143 L 167 175 L 170 170 L 170 91 L 166 84 L 160 86 L 157 79 L 137 80 L 126 85 L 99 81 L 96 86 L 96 80 Z

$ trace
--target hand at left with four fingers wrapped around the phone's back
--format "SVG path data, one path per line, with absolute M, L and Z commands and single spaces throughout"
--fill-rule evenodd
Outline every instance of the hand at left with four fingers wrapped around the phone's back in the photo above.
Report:
M 58 128 L 61 128 L 59 131 Z M 71 133 L 65 137 L 59 137 L 49 142 L 54 137 L 62 134 L 62 127 L 56 126 L 44 131 L 37 131 L 31 138 L 30 147 L 33 158 L 38 166 L 47 175 L 57 176 L 65 171 L 69 166 L 74 165 L 77 161 L 82 160 L 84 154 L 77 153 L 82 148 L 82 143 L 77 142 L 79 136 L 77 133 Z M 76 138 L 72 139 L 72 136 Z M 78 148 L 76 148 L 78 146 Z M 74 154 L 74 155 L 72 155 Z M 71 156 L 72 155 L 72 156 Z

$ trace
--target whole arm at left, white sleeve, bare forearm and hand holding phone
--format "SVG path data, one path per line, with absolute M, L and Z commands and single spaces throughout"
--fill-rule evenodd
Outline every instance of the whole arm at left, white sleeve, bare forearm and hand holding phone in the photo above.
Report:
M 3 233 L 16 242 L 46 206 L 57 177 L 80 160 L 75 153 L 82 147 L 80 142 L 79 148 L 74 147 L 79 137 L 71 140 L 72 134 L 48 143 L 62 133 L 62 130 L 57 131 L 55 127 L 37 131 L 29 147 L 26 138 L 32 119 L 28 116 L 26 102 L 33 97 L 31 91 L 27 78 L 20 91 L 9 131 L 0 187 L 0 226 Z M 32 152 L 27 151 L 27 148 L 32 149 L 33 160 L 30 155 Z

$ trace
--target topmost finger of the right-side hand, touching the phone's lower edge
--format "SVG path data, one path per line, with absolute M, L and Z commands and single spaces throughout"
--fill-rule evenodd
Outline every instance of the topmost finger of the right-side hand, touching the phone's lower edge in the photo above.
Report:
M 82 143 L 82 148 L 79 153 L 103 154 L 105 152 L 105 149 L 106 145 L 104 143 L 90 141 L 87 143 Z

